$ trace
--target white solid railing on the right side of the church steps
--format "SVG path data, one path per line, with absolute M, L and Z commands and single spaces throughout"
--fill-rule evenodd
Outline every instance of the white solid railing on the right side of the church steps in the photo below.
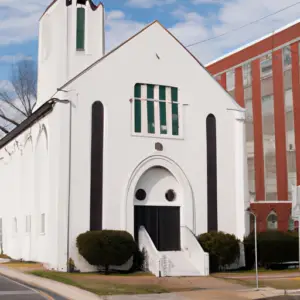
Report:
M 193 232 L 186 226 L 181 229 L 181 247 L 202 276 L 209 275 L 209 255 L 204 252 Z

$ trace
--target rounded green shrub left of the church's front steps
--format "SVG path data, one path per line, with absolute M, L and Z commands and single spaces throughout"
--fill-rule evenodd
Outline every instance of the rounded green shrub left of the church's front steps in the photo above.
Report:
M 105 267 L 108 274 L 109 266 L 121 266 L 136 251 L 133 237 L 126 231 L 102 230 L 88 231 L 77 237 L 79 253 L 93 266 Z

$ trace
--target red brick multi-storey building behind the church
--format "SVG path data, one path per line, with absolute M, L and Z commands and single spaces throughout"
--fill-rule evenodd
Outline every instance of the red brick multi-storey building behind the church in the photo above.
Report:
M 258 229 L 293 230 L 292 188 L 300 185 L 300 21 L 206 67 L 246 108 L 251 208 Z

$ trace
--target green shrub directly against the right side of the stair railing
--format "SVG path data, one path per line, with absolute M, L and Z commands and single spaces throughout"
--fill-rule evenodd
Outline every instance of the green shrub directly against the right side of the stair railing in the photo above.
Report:
M 201 234 L 197 239 L 203 250 L 209 253 L 211 272 L 225 269 L 239 259 L 239 240 L 233 234 L 208 232 Z

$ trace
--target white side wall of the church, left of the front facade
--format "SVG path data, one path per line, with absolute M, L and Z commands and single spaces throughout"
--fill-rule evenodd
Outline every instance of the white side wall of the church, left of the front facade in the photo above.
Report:
M 61 157 L 68 139 L 60 122 L 66 118 L 68 108 L 57 105 L 0 150 L 3 251 L 14 259 L 38 261 L 56 270 L 65 270 L 67 263 L 68 185 L 61 185 L 67 181 L 61 168 L 68 165 Z M 41 232 L 41 214 L 45 214 L 45 232 Z M 31 220 L 27 229 L 26 216 Z

